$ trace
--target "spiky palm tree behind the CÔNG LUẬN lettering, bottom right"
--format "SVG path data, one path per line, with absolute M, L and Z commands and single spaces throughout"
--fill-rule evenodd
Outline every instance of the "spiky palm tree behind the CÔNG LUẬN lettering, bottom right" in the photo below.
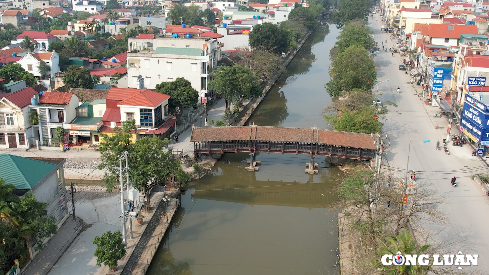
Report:
M 418 246 L 413 236 L 407 229 L 401 229 L 399 234 L 394 239 L 392 236 L 387 237 L 386 243 L 380 243 L 380 249 L 377 252 L 378 256 L 384 254 L 396 255 L 399 251 L 402 255 L 405 254 L 425 254 L 431 245 L 425 244 L 421 248 Z M 420 265 L 390 265 L 381 266 L 386 275 L 421 275 L 426 274 L 430 270 L 430 266 Z

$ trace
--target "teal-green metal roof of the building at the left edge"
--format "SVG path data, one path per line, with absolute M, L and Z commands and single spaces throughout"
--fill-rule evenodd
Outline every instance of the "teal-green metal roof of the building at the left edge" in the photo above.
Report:
M 17 189 L 31 189 L 56 166 L 46 161 L 1 154 L 0 178 L 7 184 L 14 184 Z

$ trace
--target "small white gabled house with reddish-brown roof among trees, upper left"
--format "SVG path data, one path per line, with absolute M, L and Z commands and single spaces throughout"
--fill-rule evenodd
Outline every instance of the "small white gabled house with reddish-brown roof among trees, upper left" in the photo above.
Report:
M 51 68 L 51 71 L 49 72 L 50 76 L 53 76 L 54 73 L 60 71 L 59 56 L 54 51 L 27 53 L 17 63 L 19 63 L 26 71 L 34 74 L 35 77 L 41 78 L 43 77 L 39 72 L 39 64 L 41 61 L 44 61 L 44 63 Z

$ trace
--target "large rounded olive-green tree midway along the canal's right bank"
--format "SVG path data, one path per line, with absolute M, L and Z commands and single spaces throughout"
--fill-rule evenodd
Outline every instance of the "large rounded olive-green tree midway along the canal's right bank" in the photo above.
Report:
M 354 88 L 370 91 L 377 80 L 374 60 L 363 46 L 349 46 L 339 53 L 329 73 L 332 79 L 326 83 L 325 88 L 331 96 L 341 95 Z

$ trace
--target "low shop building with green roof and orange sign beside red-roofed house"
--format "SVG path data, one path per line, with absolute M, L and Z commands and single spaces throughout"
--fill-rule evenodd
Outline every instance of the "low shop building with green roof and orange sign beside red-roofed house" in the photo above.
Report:
M 103 126 L 102 116 L 107 109 L 105 101 L 105 99 L 86 101 L 75 108 L 76 117 L 63 124 L 69 140 L 73 143 L 98 144 L 100 142 L 99 131 Z

